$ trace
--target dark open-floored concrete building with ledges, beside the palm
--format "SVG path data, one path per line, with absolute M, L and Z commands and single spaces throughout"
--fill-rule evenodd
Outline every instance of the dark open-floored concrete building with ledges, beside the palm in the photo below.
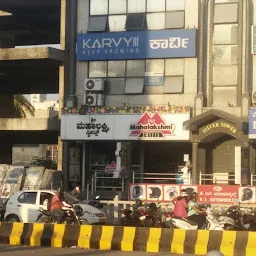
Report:
M 14 144 L 58 143 L 59 119 L 15 118 L 13 95 L 60 92 L 62 102 L 66 1 L 0 0 L 0 9 L 0 163 L 11 164 Z M 60 49 L 40 46 L 50 44 Z

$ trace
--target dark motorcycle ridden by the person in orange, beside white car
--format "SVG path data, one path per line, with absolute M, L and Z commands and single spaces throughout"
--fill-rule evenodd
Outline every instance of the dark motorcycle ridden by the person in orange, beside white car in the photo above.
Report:
M 62 210 L 64 211 L 63 224 L 88 224 L 88 221 L 86 219 L 81 218 L 84 214 L 81 206 L 75 205 L 74 207 L 62 207 Z M 39 208 L 39 212 L 40 213 L 36 221 L 37 223 L 56 223 L 57 216 L 54 216 L 51 211 Z

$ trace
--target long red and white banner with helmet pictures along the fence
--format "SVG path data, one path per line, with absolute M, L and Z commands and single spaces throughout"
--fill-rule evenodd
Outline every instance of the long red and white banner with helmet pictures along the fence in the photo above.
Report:
M 198 193 L 198 203 L 201 204 L 241 204 L 256 203 L 256 187 L 238 185 L 197 185 L 184 186 L 177 184 L 129 184 L 129 200 L 170 202 L 180 196 L 185 189 L 188 194 Z

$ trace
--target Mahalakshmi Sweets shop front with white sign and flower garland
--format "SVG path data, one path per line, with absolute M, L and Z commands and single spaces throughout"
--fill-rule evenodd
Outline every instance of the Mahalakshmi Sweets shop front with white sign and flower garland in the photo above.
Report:
M 189 107 L 176 106 L 64 109 L 69 186 L 125 198 L 128 183 L 176 183 L 184 155 L 191 156 L 189 131 L 183 129 L 189 118 Z

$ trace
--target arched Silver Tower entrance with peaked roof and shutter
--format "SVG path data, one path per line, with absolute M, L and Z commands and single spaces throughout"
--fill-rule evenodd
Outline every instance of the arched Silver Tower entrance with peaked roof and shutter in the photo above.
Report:
M 193 184 L 251 184 L 248 121 L 209 110 L 184 123 L 192 143 Z

